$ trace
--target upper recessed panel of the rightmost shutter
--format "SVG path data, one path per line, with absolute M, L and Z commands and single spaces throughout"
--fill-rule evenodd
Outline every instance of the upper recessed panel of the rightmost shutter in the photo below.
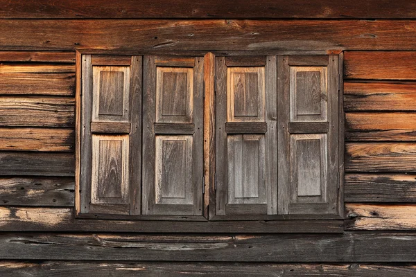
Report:
M 326 121 L 327 67 L 291 66 L 291 122 Z

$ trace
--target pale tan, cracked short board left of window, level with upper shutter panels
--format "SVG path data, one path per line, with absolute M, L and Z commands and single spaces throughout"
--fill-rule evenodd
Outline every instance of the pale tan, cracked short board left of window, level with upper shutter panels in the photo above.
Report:
M 0 126 L 73 127 L 75 100 L 64 97 L 0 97 Z

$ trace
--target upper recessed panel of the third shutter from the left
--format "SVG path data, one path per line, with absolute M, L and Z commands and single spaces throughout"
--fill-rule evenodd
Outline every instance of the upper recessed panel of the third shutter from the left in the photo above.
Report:
M 227 120 L 264 120 L 264 67 L 227 69 Z

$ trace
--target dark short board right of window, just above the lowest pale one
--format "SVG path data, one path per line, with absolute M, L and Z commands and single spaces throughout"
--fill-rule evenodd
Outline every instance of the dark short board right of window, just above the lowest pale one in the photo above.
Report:
M 345 202 L 416 202 L 414 174 L 345 175 Z

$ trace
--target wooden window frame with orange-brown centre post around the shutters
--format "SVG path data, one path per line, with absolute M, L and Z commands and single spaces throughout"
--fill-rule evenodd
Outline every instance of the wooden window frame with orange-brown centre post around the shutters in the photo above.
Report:
M 215 97 L 216 97 L 216 75 L 215 75 L 215 59 L 216 53 L 206 53 L 204 55 L 204 195 L 202 205 L 202 216 L 180 216 L 180 215 L 94 215 L 87 213 L 80 213 L 80 116 L 81 116 L 81 98 L 80 98 L 80 80 L 81 75 L 81 58 L 82 55 L 96 54 L 95 51 L 76 51 L 76 202 L 75 202 L 75 217 L 76 220 L 87 219 L 108 219 L 108 220 L 123 220 L 129 224 L 130 220 L 144 220 L 151 221 L 152 226 L 161 229 L 164 224 L 172 226 L 173 232 L 182 232 L 181 228 L 174 227 L 178 221 L 199 222 L 196 227 L 192 228 L 196 233 L 211 233 L 213 230 L 227 231 L 227 232 L 241 232 L 246 233 L 342 233 L 343 219 L 344 219 L 344 201 L 343 201 L 343 154 L 344 154 L 344 111 L 343 111 L 343 78 L 342 75 L 338 78 L 338 93 L 339 93 L 339 153 L 340 160 L 339 170 L 339 186 L 340 193 L 338 194 L 338 214 L 336 215 L 215 215 L 216 210 L 216 178 L 215 178 Z M 100 53 L 105 55 L 146 55 L 146 53 Z M 183 53 L 178 53 L 183 55 Z M 271 53 L 255 53 L 254 55 L 267 55 Z M 274 51 L 272 55 L 338 55 L 340 69 L 343 68 L 343 52 L 342 51 Z M 175 55 L 173 53 L 172 55 Z M 250 52 L 227 53 L 227 55 L 253 55 Z M 193 55 L 196 56 L 196 55 Z M 220 54 L 218 53 L 218 56 Z M 341 71 L 342 72 L 342 71 Z M 141 80 L 143 82 L 143 80 Z M 172 222 L 172 223 L 169 223 Z M 175 223 L 176 222 L 176 223 Z M 160 224 L 160 226 L 159 226 Z M 267 225 L 267 226 L 266 226 Z M 245 227 L 250 227 L 245 230 Z M 272 226 L 272 228 L 271 228 Z M 141 229 L 137 230 L 141 232 Z M 146 229 L 149 231 L 149 229 Z

